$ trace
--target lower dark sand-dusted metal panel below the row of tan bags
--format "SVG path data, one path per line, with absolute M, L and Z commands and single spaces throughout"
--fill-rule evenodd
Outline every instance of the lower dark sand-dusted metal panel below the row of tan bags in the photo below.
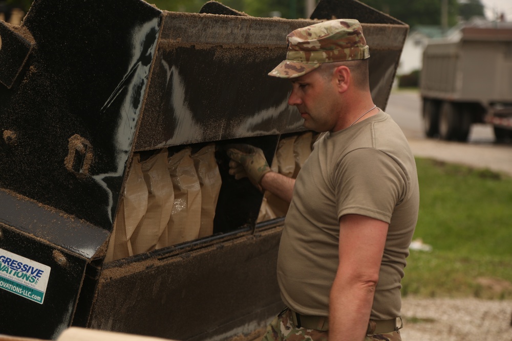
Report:
M 283 307 L 275 272 L 281 231 L 106 264 L 89 326 L 180 340 L 263 328 Z

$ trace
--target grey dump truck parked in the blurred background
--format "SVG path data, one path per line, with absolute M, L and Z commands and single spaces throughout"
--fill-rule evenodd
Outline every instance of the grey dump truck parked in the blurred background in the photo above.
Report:
M 512 139 L 512 27 L 463 27 L 429 42 L 420 92 L 429 138 L 466 141 L 474 123 L 493 126 L 496 140 Z

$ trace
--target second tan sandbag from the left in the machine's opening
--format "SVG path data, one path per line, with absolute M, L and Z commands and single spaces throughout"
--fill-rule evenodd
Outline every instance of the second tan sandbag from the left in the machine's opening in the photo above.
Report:
M 174 203 L 173 183 L 167 168 L 167 149 L 142 161 L 141 168 L 148 199 L 146 214 L 131 238 L 135 255 L 153 251 L 157 247 Z

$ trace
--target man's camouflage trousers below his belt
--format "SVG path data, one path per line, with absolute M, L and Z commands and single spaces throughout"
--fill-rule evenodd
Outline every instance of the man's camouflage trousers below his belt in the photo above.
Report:
M 298 328 L 293 325 L 290 310 L 278 315 L 268 325 L 262 341 L 327 341 L 328 331 Z M 368 334 L 365 341 L 401 341 L 400 332 Z

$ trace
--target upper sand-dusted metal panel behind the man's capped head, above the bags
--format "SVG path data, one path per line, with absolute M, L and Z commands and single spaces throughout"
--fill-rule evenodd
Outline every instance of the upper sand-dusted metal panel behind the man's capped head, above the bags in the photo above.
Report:
M 287 104 L 289 81 L 267 74 L 286 58 L 286 35 L 317 21 L 176 12 L 163 18 L 136 150 L 303 130 Z M 372 97 L 385 109 L 409 27 L 362 27 Z

